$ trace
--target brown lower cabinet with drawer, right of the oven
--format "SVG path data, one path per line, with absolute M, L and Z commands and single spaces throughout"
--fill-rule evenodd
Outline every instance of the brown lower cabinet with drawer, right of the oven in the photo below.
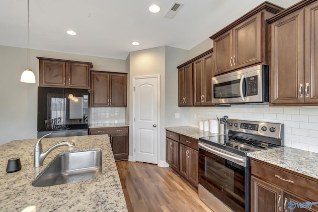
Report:
M 251 212 L 318 212 L 318 182 L 254 159 L 251 174 Z

